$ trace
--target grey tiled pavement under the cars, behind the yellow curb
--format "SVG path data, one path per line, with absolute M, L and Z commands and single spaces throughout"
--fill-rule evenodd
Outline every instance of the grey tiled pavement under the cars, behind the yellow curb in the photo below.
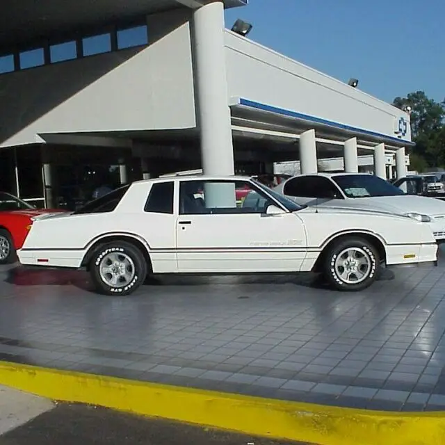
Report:
M 387 277 L 391 278 L 391 276 Z M 0 359 L 292 401 L 445 410 L 445 260 L 362 293 L 163 277 L 129 298 L 0 267 Z

